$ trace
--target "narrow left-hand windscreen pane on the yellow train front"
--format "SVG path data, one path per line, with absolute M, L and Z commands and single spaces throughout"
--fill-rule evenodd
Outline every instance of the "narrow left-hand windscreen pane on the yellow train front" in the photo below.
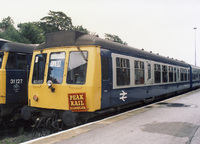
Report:
M 35 56 L 33 69 L 33 84 L 42 84 L 44 82 L 44 71 L 47 54 L 38 54 Z

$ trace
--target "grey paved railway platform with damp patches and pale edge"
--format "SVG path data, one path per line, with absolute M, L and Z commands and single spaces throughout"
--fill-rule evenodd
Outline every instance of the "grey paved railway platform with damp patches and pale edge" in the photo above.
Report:
M 24 144 L 200 144 L 200 89 Z

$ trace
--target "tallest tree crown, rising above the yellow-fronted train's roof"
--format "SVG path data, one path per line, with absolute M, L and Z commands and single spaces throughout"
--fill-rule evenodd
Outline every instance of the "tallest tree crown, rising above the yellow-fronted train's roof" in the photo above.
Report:
M 49 11 L 48 15 L 40 22 L 40 27 L 45 33 L 73 29 L 72 19 L 65 13 Z

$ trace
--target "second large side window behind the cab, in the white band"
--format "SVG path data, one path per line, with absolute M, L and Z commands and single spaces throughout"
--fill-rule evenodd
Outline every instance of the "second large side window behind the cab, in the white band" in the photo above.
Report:
M 135 61 L 135 84 L 144 84 L 144 62 Z

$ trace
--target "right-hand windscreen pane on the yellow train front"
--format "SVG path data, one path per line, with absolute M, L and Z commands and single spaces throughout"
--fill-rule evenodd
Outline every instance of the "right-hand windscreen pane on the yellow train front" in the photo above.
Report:
M 70 52 L 67 70 L 68 84 L 85 84 L 88 52 Z

